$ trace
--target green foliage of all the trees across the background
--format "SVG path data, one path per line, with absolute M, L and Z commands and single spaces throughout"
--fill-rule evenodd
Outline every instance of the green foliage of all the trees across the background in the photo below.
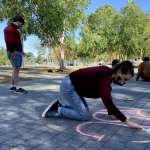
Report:
M 15 14 L 25 18 L 26 35 L 37 35 L 43 46 L 60 46 L 68 60 L 103 58 L 128 59 L 150 54 L 150 14 L 134 1 L 120 12 L 104 5 L 85 17 L 89 0 L 1 0 L 0 20 L 10 20 Z M 76 42 L 71 31 L 81 28 L 81 40 Z M 71 33 L 71 34 L 68 34 Z M 41 52 L 40 52 L 41 51 Z M 46 53 L 40 48 L 39 53 Z M 42 54 L 43 55 L 43 54 Z M 37 62 L 43 61 L 38 56 Z

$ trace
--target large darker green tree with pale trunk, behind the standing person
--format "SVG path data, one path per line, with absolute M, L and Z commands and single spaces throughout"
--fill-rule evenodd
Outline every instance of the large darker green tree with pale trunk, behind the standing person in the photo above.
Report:
M 35 34 L 43 46 L 60 46 L 63 52 L 60 39 L 67 31 L 78 27 L 87 4 L 88 0 L 3 0 L 0 18 L 10 19 L 15 14 L 23 14 L 27 35 Z

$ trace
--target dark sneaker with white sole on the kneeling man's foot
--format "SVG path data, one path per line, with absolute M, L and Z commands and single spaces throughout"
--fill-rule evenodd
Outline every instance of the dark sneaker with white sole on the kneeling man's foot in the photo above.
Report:
M 43 118 L 48 118 L 48 117 L 58 117 L 60 114 L 58 113 L 58 108 L 61 107 L 62 105 L 60 102 L 53 101 L 42 113 Z

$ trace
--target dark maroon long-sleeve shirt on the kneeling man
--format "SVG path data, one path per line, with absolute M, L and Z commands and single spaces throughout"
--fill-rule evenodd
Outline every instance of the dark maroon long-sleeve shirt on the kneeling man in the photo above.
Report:
M 101 98 L 108 113 L 124 122 L 126 117 L 112 101 L 112 73 L 112 69 L 107 66 L 89 67 L 70 73 L 70 79 L 80 96 Z

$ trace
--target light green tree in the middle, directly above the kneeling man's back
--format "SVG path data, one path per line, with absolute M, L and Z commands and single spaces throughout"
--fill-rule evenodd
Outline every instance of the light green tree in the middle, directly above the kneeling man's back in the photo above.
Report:
M 89 15 L 81 34 L 80 44 L 84 53 L 96 57 L 107 51 L 111 58 L 118 41 L 118 32 L 114 24 L 117 15 L 111 5 L 97 8 Z

